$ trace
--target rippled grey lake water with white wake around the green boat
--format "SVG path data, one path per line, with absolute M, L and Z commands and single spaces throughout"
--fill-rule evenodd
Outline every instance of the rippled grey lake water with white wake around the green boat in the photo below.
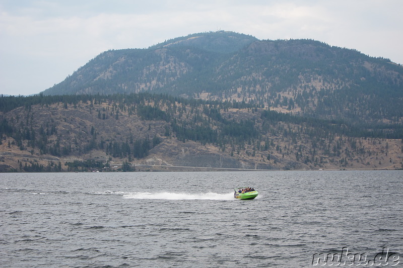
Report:
M 402 190 L 403 171 L 0 173 L 0 266 L 399 266 Z

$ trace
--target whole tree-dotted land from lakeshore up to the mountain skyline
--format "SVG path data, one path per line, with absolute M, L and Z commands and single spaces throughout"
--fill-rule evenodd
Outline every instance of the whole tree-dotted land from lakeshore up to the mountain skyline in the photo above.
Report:
M 103 52 L 39 95 L 2 96 L 0 113 L 0 170 L 401 168 L 403 67 L 201 33 Z

